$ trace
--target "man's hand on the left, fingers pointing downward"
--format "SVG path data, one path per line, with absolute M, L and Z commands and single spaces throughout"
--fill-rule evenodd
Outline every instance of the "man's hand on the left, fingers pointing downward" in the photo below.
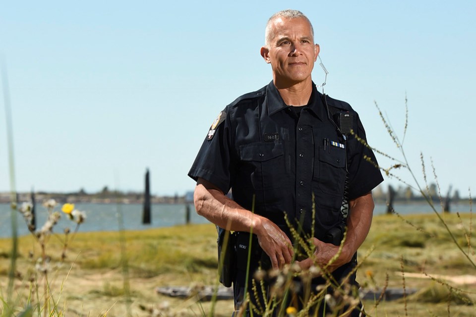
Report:
M 275 223 L 266 218 L 261 218 L 256 227 L 256 235 L 261 249 L 269 256 L 274 269 L 290 264 L 294 250 L 291 240 Z

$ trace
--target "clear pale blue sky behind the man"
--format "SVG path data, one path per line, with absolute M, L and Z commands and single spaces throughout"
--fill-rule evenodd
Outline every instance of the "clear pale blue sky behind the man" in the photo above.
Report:
M 432 158 L 442 191 L 452 184 L 467 196 L 476 188 L 475 3 L 0 1 L 17 190 L 139 191 L 147 167 L 154 194 L 192 190 L 186 174 L 218 112 L 271 80 L 259 55 L 264 27 L 292 5 L 313 23 L 325 92 L 359 112 L 370 145 L 401 158 L 374 101 L 401 138 L 407 96 L 404 149 L 418 181 L 422 152 L 429 181 Z M 323 78 L 316 64 L 313 79 Z M 0 109 L 8 191 L 3 96 Z

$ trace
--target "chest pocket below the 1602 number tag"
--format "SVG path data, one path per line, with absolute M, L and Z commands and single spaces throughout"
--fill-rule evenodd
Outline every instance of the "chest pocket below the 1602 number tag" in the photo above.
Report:
M 255 190 L 279 188 L 286 177 L 284 146 L 281 142 L 256 142 L 239 146 L 241 163 L 249 170 Z

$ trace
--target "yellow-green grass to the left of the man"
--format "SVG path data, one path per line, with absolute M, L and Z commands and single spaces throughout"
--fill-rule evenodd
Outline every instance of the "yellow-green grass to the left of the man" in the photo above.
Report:
M 64 263 L 60 261 L 60 241 L 55 242 L 58 239 L 52 237 L 49 255 L 55 266 L 51 274 L 54 275 L 51 285 L 52 289 L 56 290 L 54 295 L 61 297 L 61 301 L 64 300 L 68 312 L 82 311 L 91 313 L 90 316 L 102 316 L 105 310 L 110 308 L 108 316 L 124 316 L 123 310 L 122 314 L 119 313 L 125 303 L 125 289 L 122 283 L 121 246 L 118 237 L 119 232 L 78 232 L 69 246 Z M 193 308 L 188 307 L 190 303 L 187 304 L 186 301 L 158 296 L 155 293 L 157 286 L 215 284 L 217 252 L 214 226 L 193 225 L 125 231 L 124 237 L 133 311 L 135 309 L 135 315 L 132 316 L 148 316 L 145 311 L 139 309 L 139 304 L 155 306 L 161 302 L 174 302 L 177 303 L 174 307 L 178 310 L 193 312 Z M 19 278 L 15 281 L 15 293 L 20 298 L 18 306 L 24 306 L 30 285 L 28 272 L 34 271 L 40 250 L 29 235 L 20 237 L 18 246 Z M 4 254 L 4 257 L 0 258 L 0 297 L 6 294 L 3 280 L 8 274 L 10 248 L 10 239 L 0 239 L 0 253 Z M 33 251 L 31 259 L 30 251 Z M 60 286 L 62 284 L 63 287 Z M 205 304 L 205 307 L 207 305 Z M 59 307 L 63 305 L 60 304 Z M 115 310 L 118 312 L 114 313 Z

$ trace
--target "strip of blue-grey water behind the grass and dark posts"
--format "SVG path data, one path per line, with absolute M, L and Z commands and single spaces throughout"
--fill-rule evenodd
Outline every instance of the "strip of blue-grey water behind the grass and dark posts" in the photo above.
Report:
M 190 207 L 191 223 L 208 223 L 208 220 L 195 212 L 193 204 Z M 79 231 L 117 231 L 119 230 L 118 214 L 119 211 L 123 215 L 123 226 L 125 230 L 143 230 L 150 228 L 169 227 L 185 223 L 185 204 L 153 204 L 151 207 L 151 224 L 142 224 L 142 205 L 116 205 L 116 204 L 93 204 L 82 203 L 75 204 L 75 208 L 85 211 L 87 218 L 81 224 Z M 404 215 L 412 213 L 431 213 L 431 209 L 427 204 L 409 203 L 395 204 L 395 210 Z M 37 226 L 41 227 L 45 223 L 47 211 L 40 204 L 36 207 Z M 55 210 L 60 211 L 60 206 Z M 385 204 L 376 204 L 374 214 L 383 214 L 387 210 Z M 468 204 L 453 204 L 452 212 L 469 212 Z M 18 222 L 18 235 L 29 234 L 25 221 L 18 211 L 15 211 Z M 11 235 L 11 219 L 10 205 L 0 204 L 0 238 L 7 238 Z M 71 230 L 76 224 L 68 219 L 65 214 L 61 215 L 61 219 L 55 226 L 54 231 L 63 232 L 66 227 Z

